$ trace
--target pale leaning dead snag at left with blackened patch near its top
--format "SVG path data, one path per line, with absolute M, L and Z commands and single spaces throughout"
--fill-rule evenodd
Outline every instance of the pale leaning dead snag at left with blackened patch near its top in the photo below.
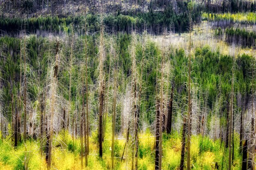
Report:
M 53 119 L 54 119 L 54 112 L 55 112 L 55 95 L 57 89 L 57 82 L 58 82 L 58 50 L 59 50 L 59 40 L 57 39 L 56 42 L 56 52 L 55 52 L 55 65 L 53 70 L 53 78 L 52 78 L 52 87 L 51 87 L 51 117 L 50 117 L 50 133 L 49 133 L 49 152 L 47 157 L 47 169 L 51 169 L 52 163 L 52 139 L 53 139 Z

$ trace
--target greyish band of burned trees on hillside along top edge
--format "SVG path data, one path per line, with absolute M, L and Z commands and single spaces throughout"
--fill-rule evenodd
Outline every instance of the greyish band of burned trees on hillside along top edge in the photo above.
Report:
M 182 12 L 188 1 L 184 0 L 25 0 L 25 1 L 9 1 L 2 2 L 0 8 L 4 16 L 24 15 L 26 17 L 52 15 L 52 16 L 67 16 L 81 15 L 85 11 L 89 13 L 116 13 L 120 12 L 148 12 L 164 11 L 168 7 L 172 7 L 175 12 Z M 236 12 L 255 12 L 256 2 L 249 0 L 225 0 L 210 1 L 202 0 L 199 4 L 203 7 L 201 10 L 208 13 L 236 13 Z

